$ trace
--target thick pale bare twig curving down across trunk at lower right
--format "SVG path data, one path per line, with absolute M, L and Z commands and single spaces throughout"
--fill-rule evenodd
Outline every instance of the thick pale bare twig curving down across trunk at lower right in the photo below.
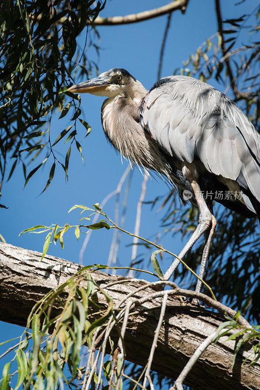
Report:
M 223 329 L 220 331 L 220 337 L 221 335 L 226 332 L 227 329 Z M 196 349 L 196 351 L 193 353 L 189 361 L 187 362 L 185 368 L 182 370 L 178 378 L 176 379 L 174 385 L 170 387 L 169 390 L 183 390 L 183 381 L 185 380 L 187 374 L 192 369 L 194 364 L 197 362 L 197 360 L 200 358 L 200 356 L 203 354 L 203 352 L 207 349 L 207 347 L 214 341 L 217 334 L 216 332 L 210 334 L 207 338 L 205 338 L 204 342 Z

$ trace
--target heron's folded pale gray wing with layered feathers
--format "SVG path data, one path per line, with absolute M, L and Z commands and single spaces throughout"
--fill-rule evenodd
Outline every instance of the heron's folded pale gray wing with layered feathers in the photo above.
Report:
M 185 76 L 167 80 L 143 103 L 152 137 L 169 155 L 199 158 L 209 172 L 237 180 L 260 201 L 260 135 L 252 123 L 210 85 Z

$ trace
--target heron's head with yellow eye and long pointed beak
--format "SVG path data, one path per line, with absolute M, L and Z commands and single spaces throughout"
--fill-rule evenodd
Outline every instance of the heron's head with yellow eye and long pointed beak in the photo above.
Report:
M 101 73 L 96 78 L 73 85 L 67 91 L 74 94 L 89 93 L 109 98 L 114 98 L 125 92 L 133 100 L 140 100 L 147 93 L 146 89 L 136 78 L 131 76 L 127 70 L 121 68 L 113 68 Z

